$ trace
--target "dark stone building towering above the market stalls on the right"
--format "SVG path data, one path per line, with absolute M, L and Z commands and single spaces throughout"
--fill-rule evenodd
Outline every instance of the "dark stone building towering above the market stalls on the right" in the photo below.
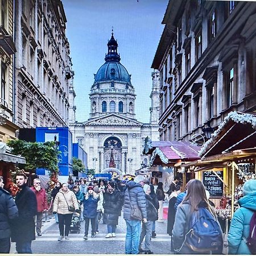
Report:
M 208 121 L 256 111 L 255 12 L 249 1 L 169 1 L 152 63 L 162 141 L 189 141 Z

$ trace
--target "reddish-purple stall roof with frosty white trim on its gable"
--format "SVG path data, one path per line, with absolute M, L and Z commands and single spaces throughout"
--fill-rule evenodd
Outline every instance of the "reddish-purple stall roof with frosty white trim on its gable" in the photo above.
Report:
M 189 142 L 172 141 L 170 146 L 156 147 L 152 152 L 150 165 L 171 165 L 177 162 L 188 162 L 200 159 L 198 152 L 201 147 L 194 146 Z

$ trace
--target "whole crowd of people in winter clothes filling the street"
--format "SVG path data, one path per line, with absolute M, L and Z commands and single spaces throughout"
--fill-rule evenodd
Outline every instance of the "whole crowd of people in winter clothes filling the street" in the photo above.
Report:
M 28 188 L 27 176 L 17 173 L 19 192 L 15 201 L 3 189 L 0 176 L 0 253 L 9 253 L 10 238 L 16 242 L 17 253 L 32 253 L 31 242 L 35 234 L 42 236 L 42 216 L 48 209 L 46 191 L 40 180 L 34 179 Z M 222 230 L 209 201 L 208 192 L 201 181 L 189 180 L 180 193 L 177 178 L 167 192 L 159 182 L 154 185 L 141 177 L 133 180 L 85 179 L 55 184 L 51 196 L 53 214 L 59 224 L 58 241 L 69 240 L 72 216 L 84 221 L 84 240 L 97 236 L 98 223 L 106 225 L 106 238 L 117 236 L 118 220 L 123 210 L 126 222 L 126 254 L 153 254 L 150 243 L 156 237 L 155 222 L 163 221 L 163 201 L 168 198 L 167 233 L 171 236 L 171 251 L 175 254 L 221 254 Z M 256 210 L 256 180 L 243 185 L 240 208 L 231 221 L 228 242 L 230 254 L 253 254 L 246 242 L 250 235 L 250 220 Z M 3 232 L 4 231 L 4 232 Z M 143 242 L 144 241 L 144 242 Z

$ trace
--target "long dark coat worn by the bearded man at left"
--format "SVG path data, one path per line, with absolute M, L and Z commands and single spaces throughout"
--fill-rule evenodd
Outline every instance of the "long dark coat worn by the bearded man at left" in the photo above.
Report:
M 35 193 L 24 185 L 15 197 L 19 217 L 11 223 L 11 241 L 28 242 L 35 240 L 35 220 L 37 203 Z

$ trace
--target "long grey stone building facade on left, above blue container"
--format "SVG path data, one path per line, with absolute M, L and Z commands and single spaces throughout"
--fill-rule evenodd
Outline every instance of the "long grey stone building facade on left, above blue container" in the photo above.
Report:
M 24 128 L 68 126 L 69 94 L 72 98 L 75 92 L 63 4 L 60 0 L 14 3 L 14 122 Z

